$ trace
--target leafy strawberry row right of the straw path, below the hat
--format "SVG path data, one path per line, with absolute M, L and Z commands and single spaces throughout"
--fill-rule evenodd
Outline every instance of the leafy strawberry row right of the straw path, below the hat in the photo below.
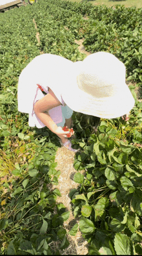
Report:
M 141 129 L 135 130 L 135 146 L 125 140 L 120 118 L 118 127 L 117 122 L 102 120 L 92 135 L 83 120 L 74 113 L 77 138 L 72 144 L 82 152 L 74 160 L 79 188 L 70 191 L 70 198 L 74 216 L 80 217 L 81 233 L 90 244 L 88 253 L 141 255 Z M 81 170 L 86 170 L 85 175 Z

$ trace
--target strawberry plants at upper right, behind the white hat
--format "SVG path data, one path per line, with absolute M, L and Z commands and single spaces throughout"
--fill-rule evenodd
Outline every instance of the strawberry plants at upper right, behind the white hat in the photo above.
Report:
M 142 10 L 134 7 L 96 6 L 90 11 L 88 32 L 83 45 L 86 51 L 107 51 L 127 67 L 127 80 L 141 86 Z

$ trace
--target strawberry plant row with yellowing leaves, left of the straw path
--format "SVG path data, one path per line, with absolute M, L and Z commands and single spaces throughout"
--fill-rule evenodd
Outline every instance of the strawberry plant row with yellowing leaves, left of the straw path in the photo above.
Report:
M 1 254 L 52 254 L 53 241 L 61 241 L 61 250 L 69 244 L 63 229 L 69 212 L 56 203 L 59 190 L 51 189 L 60 174 L 56 138 L 45 129 L 30 129 L 28 115 L 17 112 L 19 74 L 40 54 L 32 10 L 10 10 L 0 23 Z

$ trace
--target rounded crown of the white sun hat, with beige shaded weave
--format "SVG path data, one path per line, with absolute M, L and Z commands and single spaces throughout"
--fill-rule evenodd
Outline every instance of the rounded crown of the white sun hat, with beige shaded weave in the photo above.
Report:
M 98 52 L 83 60 L 77 84 L 80 90 L 94 97 L 112 97 L 125 84 L 125 74 L 123 62 L 111 53 Z

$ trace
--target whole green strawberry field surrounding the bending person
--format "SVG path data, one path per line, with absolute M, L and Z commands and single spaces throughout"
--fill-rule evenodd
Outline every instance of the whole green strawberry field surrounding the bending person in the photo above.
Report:
M 61 173 L 55 169 L 60 144 L 46 127 L 28 127 L 28 114 L 17 111 L 17 83 L 41 53 L 83 60 L 75 43 L 83 38 L 86 51 L 123 61 L 136 104 L 128 122 L 101 119 L 97 134 L 93 116 L 74 112 L 72 145 L 81 152 L 74 159 L 79 188 L 69 194 L 72 211 L 88 254 L 141 255 L 142 9 L 39 0 L 1 13 L 0 27 L 0 254 L 59 254 L 51 246 L 58 240 L 61 250 L 69 246 L 63 223 L 70 212 L 56 203 L 60 191 L 50 189 Z

